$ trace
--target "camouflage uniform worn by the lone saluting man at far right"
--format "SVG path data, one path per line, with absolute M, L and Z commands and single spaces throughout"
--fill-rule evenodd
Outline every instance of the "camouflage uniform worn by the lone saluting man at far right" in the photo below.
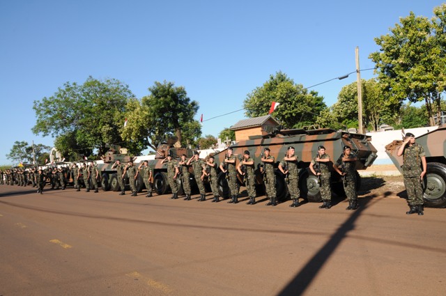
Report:
M 403 181 L 406 187 L 408 203 L 411 206 L 423 204 L 423 189 L 421 186 L 420 175 L 421 157 L 426 156 L 423 146 L 413 143 L 412 146 L 407 145 L 403 152 Z

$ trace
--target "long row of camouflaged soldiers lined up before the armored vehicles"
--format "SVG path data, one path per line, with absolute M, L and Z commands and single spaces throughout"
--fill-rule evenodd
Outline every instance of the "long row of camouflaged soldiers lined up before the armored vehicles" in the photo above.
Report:
M 355 210 L 358 207 L 357 194 L 356 194 L 356 173 L 355 173 L 355 162 L 357 158 L 351 151 L 349 146 L 344 146 L 344 152 L 339 157 L 337 162 L 334 164 L 333 168 L 337 173 L 342 176 L 344 189 L 346 196 L 349 201 L 347 210 Z M 317 176 L 319 188 L 321 191 L 321 196 L 323 199 L 323 204 L 320 208 L 330 209 L 331 208 L 331 189 L 330 189 L 330 171 L 328 164 L 330 162 L 330 156 L 325 153 L 325 148 L 323 146 L 318 147 L 318 154 L 312 159 L 309 169 L 312 173 Z M 186 155 L 181 155 L 179 160 L 174 159 L 171 155 L 168 155 L 163 163 L 167 164 L 167 181 L 171 188 L 172 196 L 171 198 L 178 198 L 178 183 L 177 179 L 180 179 L 180 184 L 183 186 L 185 193 L 185 200 L 191 200 L 191 184 L 190 184 L 190 174 L 189 168 L 192 166 L 192 171 L 194 173 L 194 179 L 199 188 L 200 198 L 198 201 L 206 201 L 206 190 L 204 187 L 205 179 L 210 183 L 210 188 L 213 193 L 213 202 L 220 201 L 220 194 L 218 190 L 218 178 L 217 169 L 220 168 L 225 174 L 226 181 L 229 187 L 229 195 L 231 197 L 229 203 L 238 203 L 238 193 L 240 190 L 239 182 L 245 183 L 247 188 L 247 194 L 249 196 L 249 201 L 247 204 L 256 204 L 256 189 L 255 189 L 255 166 L 254 159 L 252 159 L 248 150 L 245 150 L 243 156 L 240 157 L 240 161 L 237 163 L 237 157 L 233 155 L 233 149 L 228 148 L 227 153 L 223 162 L 220 166 L 217 166 L 213 155 L 210 155 L 206 159 L 201 159 L 199 153 L 196 151 L 190 159 L 187 159 Z M 339 169 L 340 168 L 340 169 Z M 128 174 L 128 180 L 130 185 L 130 190 L 132 191 L 132 196 L 137 196 L 136 180 L 140 171 L 144 176 L 143 181 L 147 189 L 147 197 L 152 196 L 152 183 L 151 179 L 153 172 L 148 166 L 148 162 L 144 161 L 139 164 L 137 168 L 134 166 L 132 160 L 128 164 L 123 165 L 121 162 L 116 161 L 112 166 L 112 169 L 116 169 L 118 176 L 119 187 L 121 188 L 120 195 L 125 194 L 125 173 Z M 296 208 L 300 206 L 300 190 L 299 184 L 299 171 L 298 171 L 298 157 L 295 155 L 295 149 L 290 146 L 286 150 L 286 155 L 279 162 L 279 171 L 282 172 L 286 180 L 286 186 L 288 187 L 289 194 L 292 199 L 290 207 Z M 39 170 L 40 171 L 40 170 Z M 82 166 L 77 166 L 73 163 L 69 167 L 61 168 L 48 168 L 41 170 L 45 179 L 50 180 L 52 189 L 62 189 L 66 188 L 66 183 L 68 178 L 72 178 L 74 182 L 74 187 L 77 191 L 80 191 L 81 181 L 84 182 L 86 187 L 86 192 L 90 191 L 90 186 L 98 192 L 98 181 L 100 179 L 100 173 L 98 167 L 95 166 L 94 162 L 89 165 L 83 163 Z M 263 182 L 266 187 L 266 195 L 269 198 L 266 205 L 277 205 L 277 194 L 276 194 L 276 175 L 275 175 L 275 157 L 270 155 L 270 149 L 264 148 L 263 154 L 261 155 L 261 165 L 260 171 L 263 175 Z M 3 182 L 3 172 L 1 176 L 1 182 Z M 17 173 L 14 179 L 15 173 Z M 27 178 L 25 177 L 27 175 Z M 27 183 L 31 182 L 33 187 L 39 185 L 40 173 L 38 173 L 36 168 L 32 168 L 26 174 L 23 169 L 17 169 L 17 171 L 7 170 L 6 172 L 6 183 L 12 185 L 13 182 L 10 180 L 18 180 L 17 185 L 25 186 Z M 241 176 L 241 178 L 240 178 Z M 243 178 L 243 179 L 242 179 Z M 27 181 L 28 180 L 28 181 Z M 43 184 L 45 185 L 45 184 Z M 43 187 L 39 189 L 42 193 Z

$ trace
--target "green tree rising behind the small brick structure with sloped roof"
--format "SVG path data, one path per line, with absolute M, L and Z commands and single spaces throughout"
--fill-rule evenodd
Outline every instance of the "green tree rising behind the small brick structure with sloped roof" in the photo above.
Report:
M 267 115 L 272 102 L 279 103 L 274 117 L 287 128 L 314 124 L 326 107 L 323 97 L 318 96 L 316 91 L 308 91 L 302 84 L 295 84 L 293 79 L 282 72 L 270 75 L 263 86 L 247 95 L 244 102 L 246 115 Z

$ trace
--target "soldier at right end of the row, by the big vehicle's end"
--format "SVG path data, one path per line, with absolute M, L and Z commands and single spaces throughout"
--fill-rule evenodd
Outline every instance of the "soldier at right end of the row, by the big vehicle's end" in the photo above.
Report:
M 346 192 L 348 199 L 346 210 L 356 210 L 359 205 L 356 194 L 356 160 L 357 157 L 355 153 L 351 152 L 350 146 L 344 146 L 344 153 L 339 156 L 333 165 L 334 171 L 342 176 L 344 192 Z

